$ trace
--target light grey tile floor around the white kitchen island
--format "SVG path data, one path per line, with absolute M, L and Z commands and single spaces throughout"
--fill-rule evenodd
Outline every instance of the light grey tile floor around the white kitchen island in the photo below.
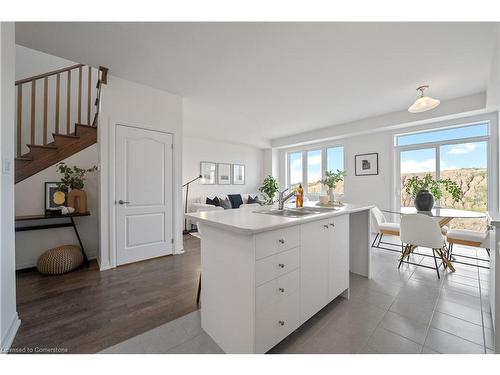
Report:
M 470 248 L 456 249 L 470 255 Z M 480 256 L 485 257 L 482 250 Z M 488 270 L 456 273 L 403 265 L 398 254 L 372 249 L 373 278 L 351 274 L 351 297 L 339 297 L 270 353 L 493 353 Z M 420 264 L 432 258 L 414 256 Z M 102 353 L 222 353 L 195 311 Z

